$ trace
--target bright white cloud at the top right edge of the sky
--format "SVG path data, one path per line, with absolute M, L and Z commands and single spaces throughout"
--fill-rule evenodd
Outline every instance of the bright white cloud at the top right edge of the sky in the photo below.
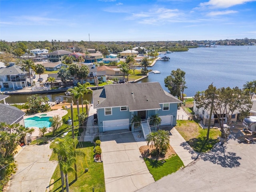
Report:
M 229 8 L 235 5 L 240 5 L 253 1 L 256 0 L 209 0 L 208 2 L 200 3 L 200 6 L 207 6 L 211 8 Z

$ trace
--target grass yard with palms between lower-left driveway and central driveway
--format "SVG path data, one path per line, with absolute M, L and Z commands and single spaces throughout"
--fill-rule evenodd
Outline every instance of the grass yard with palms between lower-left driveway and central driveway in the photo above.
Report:
M 54 145 L 51 144 L 51 148 Z M 77 181 L 74 180 L 74 173 L 68 174 L 70 192 L 91 192 L 93 188 L 95 192 L 105 192 L 103 163 L 94 162 L 94 144 L 91 142 L 80 142 L 77 148 L 81 148 L 85 152 L 86 157 L 77 158 Z M 57 159 L 57 155 L 52 153 L 50 160 Z M 88 168 L 88 172 L 84 173 L 86 168 Z M 57 166 L 51 179 L 50 192 L 61 192 L 61 190 L 60 166 Z

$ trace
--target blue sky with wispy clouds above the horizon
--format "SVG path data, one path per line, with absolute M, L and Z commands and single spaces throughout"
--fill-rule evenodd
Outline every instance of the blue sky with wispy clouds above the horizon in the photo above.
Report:
M 256 39 L 256 0 L 0 0 L 12 41 Z

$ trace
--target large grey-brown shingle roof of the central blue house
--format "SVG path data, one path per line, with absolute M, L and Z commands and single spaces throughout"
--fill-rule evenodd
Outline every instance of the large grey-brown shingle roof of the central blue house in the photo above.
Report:
M 130 111 L 160 109 L 161 103 L 181 102 L 158 82 L 105 85 L 93 91 L 93 100 L 94 108 L 128 106 Z

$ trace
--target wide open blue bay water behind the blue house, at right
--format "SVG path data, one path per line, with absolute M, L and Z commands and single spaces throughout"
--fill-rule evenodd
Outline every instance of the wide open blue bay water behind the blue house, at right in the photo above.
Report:
M 159 55 L 169 56 L 169 61 L 159 60 L 149 69 L 158 70 L 161 74 L 150 73 L 140 82 L 160 82 L 164 90 L 164 78 L 172 70 L 186 72 L 184 93 L 194 96 L 213 83 L 217 88 L 242 88 L 246 81 L 256 79 L 256 46 L 217 46 L 215 48 L 193 48 L 187 52 L 174 52 Z

